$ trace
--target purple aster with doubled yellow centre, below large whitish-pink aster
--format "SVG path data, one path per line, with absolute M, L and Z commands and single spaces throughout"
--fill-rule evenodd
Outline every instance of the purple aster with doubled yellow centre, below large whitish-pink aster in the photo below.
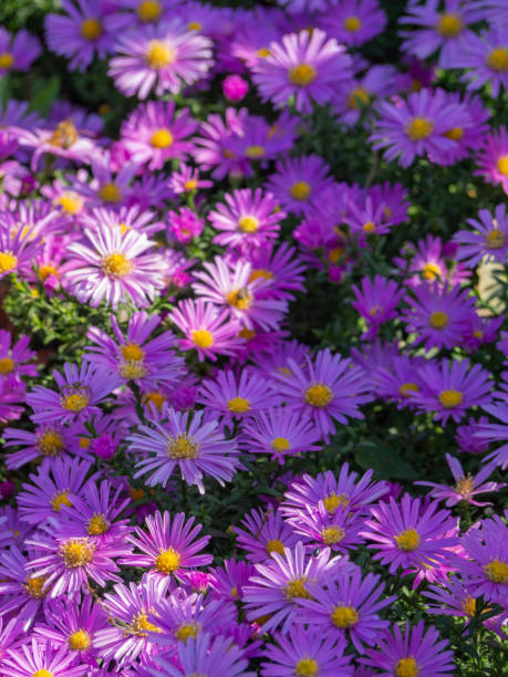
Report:
M 176 343 L 173 332 L 151 337 L 160 324 L 159 315 L 133 313 L 125 336 L 113 314 L 110 320 L 115 340 L 97 326 L 91 326 L 87 332 L 95 345 L 85 347 L 85 360 L 97 369 L 106 369 L 123 383 L 134 381 L 143 389 L 155 389 L 182 377 L 184 361 L 173 350 Z

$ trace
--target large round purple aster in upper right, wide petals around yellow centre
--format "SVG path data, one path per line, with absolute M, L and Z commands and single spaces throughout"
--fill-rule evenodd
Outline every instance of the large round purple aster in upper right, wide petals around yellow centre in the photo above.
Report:
M 443 164 L 443 157 L 458 145 L 446 132 L 468 124 L 467 112 L 443 90 L 422 90 L 393 103 L 382 101 L 377 111 L 381 118 L 370 137 L 373 148 L 385 148 L 384 157 L 397 158 L 402 167 L 426 155 Z

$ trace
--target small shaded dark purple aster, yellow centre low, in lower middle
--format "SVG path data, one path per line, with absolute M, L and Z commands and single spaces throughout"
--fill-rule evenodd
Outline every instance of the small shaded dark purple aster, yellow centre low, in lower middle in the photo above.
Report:
M 246 529 L 235 527 L 238 545 L 247 551 L 251 562 L 270 561 L 272 552 L 284 554 L 284 548 L 293 548 L 301 539 L 293 533 L 281 514 L 273 510 L 252 509 L 241 521 Z

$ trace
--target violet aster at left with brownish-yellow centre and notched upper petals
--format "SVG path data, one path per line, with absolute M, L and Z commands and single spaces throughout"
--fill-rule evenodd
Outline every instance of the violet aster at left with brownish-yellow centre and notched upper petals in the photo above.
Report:
M 97 405 L 121 383 L 120 377 L 115 379 L 111 373 L 104 373 L 89 362 L 83 362 L 80 368 L 65 363 L 63 371 L 64 375 L 53 371 L 58 392 L 37 385 L 27 395 L 27 404 L 34 410 L 32 420 L 35 423 L 86 420 L 100 413 Z

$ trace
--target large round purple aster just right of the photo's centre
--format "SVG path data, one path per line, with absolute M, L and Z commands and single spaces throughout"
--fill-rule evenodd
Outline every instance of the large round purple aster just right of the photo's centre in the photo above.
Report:
M 274 374 L 274 390 L 288 406 L 314 421 L 326 444 L 335 430 L 334 420 L 345 425 L 346 417 L 363 418 L 359 405 L 372 397 L 363 371 L 351 358 L 325 348 L 314 360 L 307 357 L 303 368 L 292 360 L 288 367 L 291 374 Z

